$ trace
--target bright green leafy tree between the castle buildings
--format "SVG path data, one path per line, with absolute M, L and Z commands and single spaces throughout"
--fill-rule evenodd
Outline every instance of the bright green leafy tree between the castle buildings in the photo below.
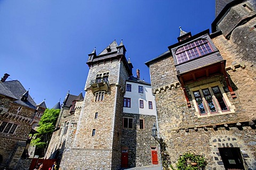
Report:
M 43 148 L 44 152 L 47 149 L 52 132 L 55 129 L 60 109 L 46 109 L 41 120 L 39 121 L 39 128 L 37 128 L 36 138 L 32 139 L 30 144 L 37 148 Z

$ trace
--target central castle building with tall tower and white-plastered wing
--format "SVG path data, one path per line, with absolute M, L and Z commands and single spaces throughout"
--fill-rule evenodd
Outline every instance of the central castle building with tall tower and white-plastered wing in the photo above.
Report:
M 132 76 L 123 42 L 113 41 L 87 60 L 89 74 L 82 94 L 67 94 L 46 158 L 61 169 L 119 169 L 159 164 L 151 136 L 156 122 L 150 84 Z

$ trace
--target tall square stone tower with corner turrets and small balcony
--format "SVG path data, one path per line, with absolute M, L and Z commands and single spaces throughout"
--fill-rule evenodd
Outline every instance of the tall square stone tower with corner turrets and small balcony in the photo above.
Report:
M 122 42 L 113 41 L 99 55 L 95 49 L 89 54 L 86 94 L 74 141 L 63 153 L 62 169 L 120 167 L 123 94 L 132 74 L 125 52 Z

